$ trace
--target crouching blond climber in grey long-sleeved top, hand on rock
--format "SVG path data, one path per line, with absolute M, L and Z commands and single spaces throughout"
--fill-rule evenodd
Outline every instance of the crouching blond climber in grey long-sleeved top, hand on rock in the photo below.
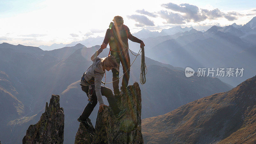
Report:
M 84 111 L 77 121 L 82 122 L 86 127 L 89 127 L 89 123 L 87 122 L 87 118 L 91 115 L 93 108 L 97 104 L 97 100 L 99 101 L 100 108 L 99 111 L 104 109 L 103 106 L 106 106 L 103 102 L 102 96 L 107 97 L 109 106 L 112 108 L 115 117 L 121 118 L 126 112 L 126 108 L 121 111 L 116 103 L 116 99 L 113 95 L 111 89 L 101 86 L 101 80 L 106 72 L 110 69 L 118 69 L 119 64 L 117 64 L 116 59 L 113 56 L 108 56 L 106 58 L 98 58 L 97 56 L 102 52 L 102 48 L 100 48 L 97 52 L 95 52 L 91 60 L 93 61 L 92 65 L 84 72 L 80 85 L 82 90 L 86 92 L 88 96 L 89 103 L 84 108 Z M 108 106 L 107 106 L 108 107 Z

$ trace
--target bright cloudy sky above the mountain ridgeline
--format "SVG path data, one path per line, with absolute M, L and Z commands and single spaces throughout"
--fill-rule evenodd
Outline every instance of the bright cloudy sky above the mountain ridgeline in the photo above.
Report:
M 0 44 L 69 44 L 104 36 L 116 15 L 132 33 L 175 26 L 207 30 L 234 22 L 244 25 L 256 16 L 256 1 L 0 0 Z

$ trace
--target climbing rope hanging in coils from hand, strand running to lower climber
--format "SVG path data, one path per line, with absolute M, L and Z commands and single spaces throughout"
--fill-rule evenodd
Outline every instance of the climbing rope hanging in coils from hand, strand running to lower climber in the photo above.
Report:
M 129 50 L 130 50 L 130 49 L 129 49 Z M 141 51 L 140 51 L 140 50 L 141 50 Z M 136 54 L 133 54 L 131 50 L 130 50 L 130 52 L 131 52 L 134 56 L 136 56 L 135 59 L 132 61 L 132 64 L 133 64 L 133 62 L 136 60 L 136 58 L 138 57 L 138 55 L 141 54 L 140 84 L 143 85 L 143 84 L 146 83 L 146 74 L 147 74 L 147 72 L 148 72 L 148 69 L 147 69 L 147 66 L 146 66 L 146 63 L 145 63 L 144 47 L 141 47 L 140 50 L 139 50 L 139 52 L 138 52 L 137 55 L 136 55 Z M 132 66 L 132 64 L 131 64 L 131 66 Z M 131 68 L 131 66 L 126 70 L 126 72 L 128 72 L 128 70 Z M 146 70 L 147 70 L 147 71 L 146 71 Z M 125 73 L 126 73 L 126 72 L 125 72 Z M 124 73 L 124 74 L 125 74 L 125 73 Z M 123 74 L 122 76 L 124 76 L 124 74 Z M 115 81 L 119 80 L 122 76 L 120 76 L 120 77 L 119 77 L 118 79 L 116 79 Z M 115 82 L 115 81 L 106 83 L 106 75 L 105 75 L 105 82 L 102 82 L 102 81 L 101 81 L 101 83 L 105 85 L 105 84 L 111 84 L 111 83 L 113 83 L 113 82 Z

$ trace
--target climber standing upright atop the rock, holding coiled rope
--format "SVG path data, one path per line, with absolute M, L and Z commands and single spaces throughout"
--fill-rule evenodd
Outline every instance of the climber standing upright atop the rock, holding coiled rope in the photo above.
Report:
M 104 41 L 100 47 L 104 49 L 109 44 L 110 55 L 116 58 L 116 62 L 118 64 L 120 64 L 121 61 L 124 73 L 122 80 L 122 90 L 124 90 L 128 86 L 130 78 L 130 56 L 128 52 L 128 39 L 130 39 L 132 42 L 140 43 L 140 47 L 144 47 L 145 44 L 142 40 L 138 39 L 135 36 L 132 36 L 129 28 L 124 25 L 124 20 L 121 16 L 115 16 L 113 21 L 114 23 L 110 23 Z M 114 94 L 119 95 L 119 67 L 118 69 L 113 68 L 112 74 L 112 80 L 114 81 Z

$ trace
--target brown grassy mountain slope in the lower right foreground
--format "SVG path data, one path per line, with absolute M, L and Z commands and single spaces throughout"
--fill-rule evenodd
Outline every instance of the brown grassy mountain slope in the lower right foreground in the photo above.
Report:
M 142 120 L 148 143 L 255 143 L 256 76 L 167 114 Z

